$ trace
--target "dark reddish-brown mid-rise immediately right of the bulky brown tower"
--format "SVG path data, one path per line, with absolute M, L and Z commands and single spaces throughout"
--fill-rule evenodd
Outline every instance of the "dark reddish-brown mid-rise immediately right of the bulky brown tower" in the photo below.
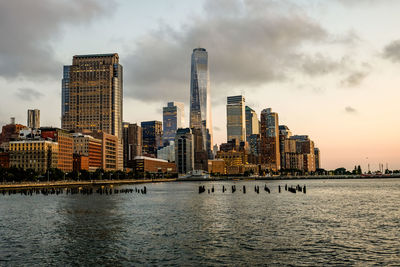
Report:
M 122 128 L 124 145 L 124 168 L 133 168 L 136 156 L 142 155 L 142 127 L 124 122 Z

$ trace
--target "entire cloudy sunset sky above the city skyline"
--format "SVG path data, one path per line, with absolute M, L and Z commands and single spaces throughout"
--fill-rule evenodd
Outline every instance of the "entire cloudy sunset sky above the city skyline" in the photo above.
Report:
M 309 135 L 323 168 L 400 169 L 400 1 L 0 0 L 0 126 L 60 126 L 63 65 L 118 53 L 124 121 L 162 121 L 185 103 L 190 56 L 209 54 L 214 142 L 226 141 L 226 97 L 272 108 Z

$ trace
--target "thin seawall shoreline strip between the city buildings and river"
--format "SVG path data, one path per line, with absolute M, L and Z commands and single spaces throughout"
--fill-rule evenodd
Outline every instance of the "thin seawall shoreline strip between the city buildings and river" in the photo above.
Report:
M 164 183 L 164 182 L 218 182 L 218 181 L 281 181 L 281 180 L 359 180 L 359 179 L 398 179 L 400 175 L 375 176 L 276 176 L 276 177 L 211 177 L 211 178 L 172 178 L 172 179 L 127 179 L 127 180 L 91 180 L 91 181 L 49 181 L 0 184 L 0 190 L 28 188 L 62 188 L 90 186 L 118 186 L 126 184 Z

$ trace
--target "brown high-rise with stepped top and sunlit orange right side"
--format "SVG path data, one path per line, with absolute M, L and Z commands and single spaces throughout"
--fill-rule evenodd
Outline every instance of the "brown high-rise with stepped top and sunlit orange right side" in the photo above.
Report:
M 265 164 L 272 171 L 279 171 L 279 122 L 278 113 L 270 108 L 261 112 L 261 164 Z

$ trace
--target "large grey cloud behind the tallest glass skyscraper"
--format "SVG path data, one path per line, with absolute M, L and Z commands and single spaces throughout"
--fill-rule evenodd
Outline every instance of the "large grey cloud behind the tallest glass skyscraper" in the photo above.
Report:
M 319 75 L 336 68 L 326 57 L 301 51 L 305 45 L 323 42 L 328 33 L 295 6 L 213 0 L 205 9 L 212 12 L 193 16 L 179 29 L 161 25 L 136 43 L 123 60 L 126 96 L 186 100 L 190 56 L 199 46 L 209 53 L 213 97 L 233 88 L 285 81 L 291 70 Z

